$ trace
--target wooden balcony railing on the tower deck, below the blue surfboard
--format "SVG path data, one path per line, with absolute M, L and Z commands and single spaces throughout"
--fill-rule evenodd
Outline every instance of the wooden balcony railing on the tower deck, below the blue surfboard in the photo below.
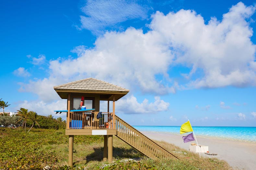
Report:
M 113 129 L 113 113 L 70 112 L 69 129 Z

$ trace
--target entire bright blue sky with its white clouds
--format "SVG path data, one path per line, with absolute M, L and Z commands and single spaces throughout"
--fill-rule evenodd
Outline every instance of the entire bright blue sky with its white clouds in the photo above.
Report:
M 253 1 L 1 1 L 0 98 L 40 115 L 88 77 L 131 125 L 256 126 Z M 102 102 L 102 111 L 106 104 Z M 134 119 L 135 117 L 135 119 Z

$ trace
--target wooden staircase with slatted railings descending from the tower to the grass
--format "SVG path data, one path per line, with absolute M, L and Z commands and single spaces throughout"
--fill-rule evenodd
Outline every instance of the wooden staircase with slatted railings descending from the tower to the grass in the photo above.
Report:
M 117 130 L 116 136 L 122 139 L 128 145 L 134 147 L 134 149 L 138 150 L 142 154 L 152 159 L 162 159 L 170 157 L 177 158 L 175 155 L 171 154 L 170 152 L 156 144 L 154 141 L 140 133 L 134 127 L 123 121 L 117 115 L 115 115 L 115 118 Z

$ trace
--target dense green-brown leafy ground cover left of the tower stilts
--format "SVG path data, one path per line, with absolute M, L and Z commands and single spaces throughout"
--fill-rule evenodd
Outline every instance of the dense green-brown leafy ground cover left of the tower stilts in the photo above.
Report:
M 77 136 L 74 139 L 76 144 L 83 145 L 100 141 L 100 136 Z M 42 148 L 51 145 L 68 148 L 68 137 L 64 129 L 34 129 L 25 133 L 22 128 L 0 128 L 0 145 L 0 169 L 40 169 L 44 165 L 62 164 L 58 153 Z

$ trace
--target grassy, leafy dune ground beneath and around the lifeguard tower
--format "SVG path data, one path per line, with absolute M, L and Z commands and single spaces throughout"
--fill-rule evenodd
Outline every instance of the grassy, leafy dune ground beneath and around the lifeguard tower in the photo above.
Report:
M 57 120 L 55 120 L 57 121 Z M 97 135 L 76 135 L 74 137 L 74 167 L 68 167 L 68 136 L 65 130 L 35 129 L 29 133 L 21 127 L 0 128 L 0 169 L 104 169 L 104 170 L 230 170 L 225 161 L 201 158 L 197 154 L 180 149 L 174 145 L 157 142 L 175 154 L 178 159 L 152 160 L 113 138 L 113 164 L 102 161 L 103 138 Z M 140 158 L 139 161 L 128 158 Z

